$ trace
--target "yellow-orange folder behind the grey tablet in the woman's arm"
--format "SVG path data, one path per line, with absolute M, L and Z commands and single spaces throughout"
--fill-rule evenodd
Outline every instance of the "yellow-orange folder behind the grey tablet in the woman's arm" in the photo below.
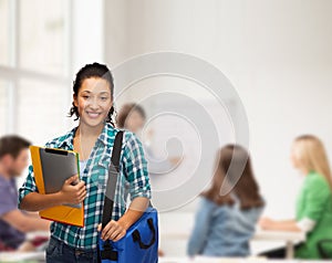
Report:
M 51 149 L 51 148 L 44 148 L 44 147 L 39 147 L 39 146 L 30 146 L 34 179 L 35 179 L 35 185 L 38 187 L 39 193 L 45 194 L 45 192 L 46 192 L 45 183 L 44 183 L 44 176 L 43 176 L 44 167 L 43 167 L 42 158 L 41 158 L 41 150 L 43 150 L 43 149 L 46 149 L 50 151 L 53 150 L 54 152 L 56 151 L 58 154 L 60 152 L 61 155 L 66 155 L 68 152 L 75 154 L 75 157 L 76 157 L 75 165 L 77 166 L 77 175 L 80 177 L 80 166 L 79 166 L 79 154 L 77 152 L 71 151 L 71 150 Z M 60 160 L 60 161 L 62 161 L 62 160 Z M 59 166 L 59 164 L 56 164 L 56 166 Z M 73 175 L 69 175 L 68 178 L 71 176 L 73 176 Z M 61 185 L 62 183 L 63 182 L 61 182 Z M 42 210 L 39 212 L 39 214 L 41 218 L 48 219 L 51 221 L 76 225 L 76 227 L 84 227 L 84 204 L 83 203 L 79 208 L 70 207 L 70 206 L 58 206 L 58 207 Z

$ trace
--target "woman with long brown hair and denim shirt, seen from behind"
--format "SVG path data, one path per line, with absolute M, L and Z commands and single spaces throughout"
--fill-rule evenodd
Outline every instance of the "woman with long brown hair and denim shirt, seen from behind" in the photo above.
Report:
M 220 194 L 222 182 L 235 185 L 225 196 Z M 249 255 L 249 240 L 262 208 L 248 152 L 235 145 L 221 148 L 211 187 L 201 193 L 188 255 Z

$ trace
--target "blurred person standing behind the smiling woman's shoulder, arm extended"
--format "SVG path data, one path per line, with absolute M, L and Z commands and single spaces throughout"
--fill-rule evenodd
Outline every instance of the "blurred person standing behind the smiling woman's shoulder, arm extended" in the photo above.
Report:
M 152 150 L 152 136 L 153 130 L 147 132 L 147 137 L 142 138 L 142 129 L 145 125 L 146 113 L 144 108 L 135 103 L 127 103 L 122 106 L 116 118 L 116 126 L 118 128 L 125 128 L 136 134 L 143 141 L 144 150 L 148 158 L 149 175 L 163 175 L 170 171 L 177 166 L 181 158 L 169 157 L 165 160 L 156 159 L 154 151 Z

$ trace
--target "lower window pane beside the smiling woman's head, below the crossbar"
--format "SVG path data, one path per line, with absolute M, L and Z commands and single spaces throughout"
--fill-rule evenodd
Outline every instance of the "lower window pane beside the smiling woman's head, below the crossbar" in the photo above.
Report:
M 39 145 L 63 134 L 69 91 L 68 85 L 22 78 L 17 93 L 17 132 Z

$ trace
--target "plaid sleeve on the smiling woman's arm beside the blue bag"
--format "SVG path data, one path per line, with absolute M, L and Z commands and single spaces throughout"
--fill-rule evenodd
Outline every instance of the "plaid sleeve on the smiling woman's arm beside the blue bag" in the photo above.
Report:
M 124 167 L 129 182 L 131 199 L 145 197 L 151 199 L 151 185 L 147 162 L 139 139 L 129 132 L 125 132 Z

